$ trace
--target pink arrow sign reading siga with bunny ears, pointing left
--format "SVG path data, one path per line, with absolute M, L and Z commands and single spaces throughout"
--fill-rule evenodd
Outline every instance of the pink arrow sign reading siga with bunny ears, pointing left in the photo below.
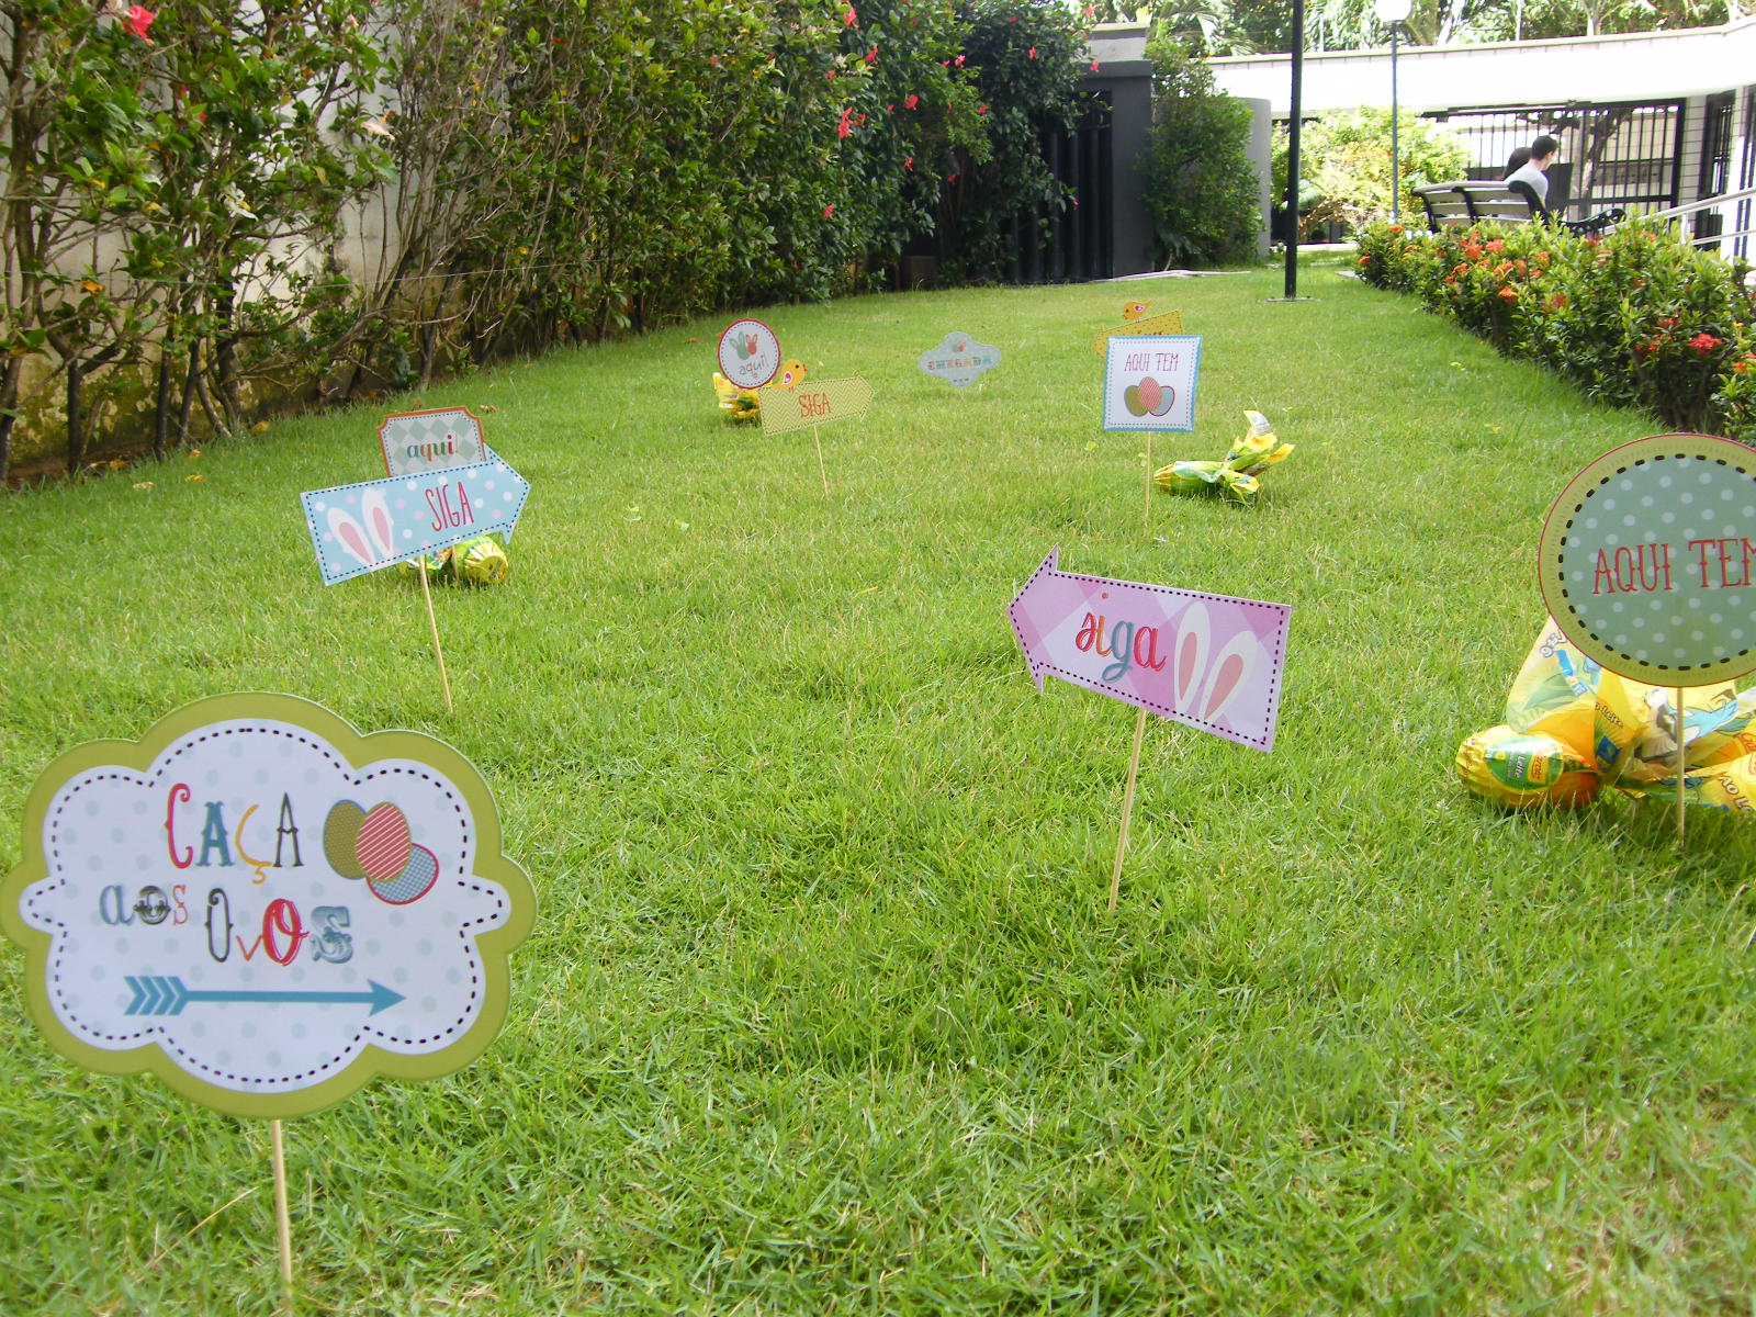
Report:
M 1055 569 L 1054 548 L 1006 609 L 1043 676 L 1257 750 L 1275 748 L 1287 604 Z

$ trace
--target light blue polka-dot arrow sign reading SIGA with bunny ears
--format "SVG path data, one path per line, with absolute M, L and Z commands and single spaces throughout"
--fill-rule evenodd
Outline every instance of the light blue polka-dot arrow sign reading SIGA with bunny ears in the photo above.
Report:
M 323 585 L 500 532 L 513 537 L 530 481 L 488 451 L 486 462 L 299 495 Z

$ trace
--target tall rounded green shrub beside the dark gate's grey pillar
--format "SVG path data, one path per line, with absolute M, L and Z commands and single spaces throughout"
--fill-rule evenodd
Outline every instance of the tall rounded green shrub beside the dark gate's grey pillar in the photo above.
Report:
M 1224 265 L 1256 255 L 1261 177 L 1250 163 L 1250 109 L 1213 90 L 1213 72 L 1184 47 L 1155 40 L 1155 104 L 1147 155 L 1147 209 L 1168 263 Z

